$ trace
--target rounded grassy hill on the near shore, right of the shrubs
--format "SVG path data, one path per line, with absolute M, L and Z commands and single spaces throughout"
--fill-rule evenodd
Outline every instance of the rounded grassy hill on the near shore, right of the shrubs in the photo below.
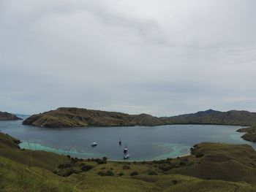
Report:
M 195 145 L 192 154 L 197 157 L 194 164 L 173 169 L 170 173 L 256 184 L 256 152 L 249 145 L 205 142 Z

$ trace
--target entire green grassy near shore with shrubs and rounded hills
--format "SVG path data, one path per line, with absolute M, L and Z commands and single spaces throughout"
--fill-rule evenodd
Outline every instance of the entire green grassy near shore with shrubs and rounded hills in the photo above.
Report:
M 256 191 L 249 145 L 203 142 L 191 155 L 160 161 L 80 159 L 20 149 L 0 133 L 0 191 Z

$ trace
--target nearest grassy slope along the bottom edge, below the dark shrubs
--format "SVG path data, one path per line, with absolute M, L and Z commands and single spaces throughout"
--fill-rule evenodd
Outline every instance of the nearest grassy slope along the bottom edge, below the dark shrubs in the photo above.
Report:
M 0 157 L 0 191 L 180 191 L 180 192 L 252 192 L 248 183 L 200 180 L 184 175 L 100 177 L 72 174 L 60 177 L 48 170 L 17 164 Z

